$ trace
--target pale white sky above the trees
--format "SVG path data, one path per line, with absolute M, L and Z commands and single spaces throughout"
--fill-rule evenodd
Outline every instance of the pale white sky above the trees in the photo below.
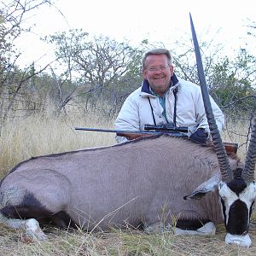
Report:
M 55 0 L 55 6 L 40 7 L 27 17 L 24 26 L 32 26 L 32 33 L 18 41 L 20 63 L 44 65 L 54 59 L 53 49 L 39 38 L 72 28 L 134 45 L 148 38 L 168 48 L 178 38 L 191 37 L 189 13 L 199 41 L 214 38 L 230 52 L 253 50 L 255 43 L 249 41 L 256 38 L 248 38 L 247 25 L 256 21 L 255 9 L 255 0 Z

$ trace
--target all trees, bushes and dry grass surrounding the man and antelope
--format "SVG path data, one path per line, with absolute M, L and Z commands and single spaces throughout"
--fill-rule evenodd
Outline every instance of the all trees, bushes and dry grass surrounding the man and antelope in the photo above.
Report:
M 37 62 L 19 67 L 15 39 L 30 27 L 23 20 L 49 0 L 0 1 L 0 175 L 32 156 L 115 143 L 112 133 L 74 131 L 74 126 L 113 128 L 119 108 L 141 84 L 141 58 L 154 43 L 90 37 L 75 29 L 44 38 L 55 49 L 55 61 L 45 67 Z M 255 36 L 253 21 L 248 37 Z M 256 107 L 256 56 L 247 49 L 224 55 L 221 45 L 201 42 L 209 91 L 226 115 L 224 141 L 239 143 L 244 158 L 250 123 Z M 180 39 L 172 49 L 176 73 L 199 84 L 194 49 Z M 156 45 L 155 45 L 156 46 Z M 159 45 L 157 45 L 159 46 Z M 164 46 L 164 45 L 161 45 Z M 217 236 L 148 236 L 141 231 L 113 230 L 86 234 L 82 230 L 46 228 L 49 241 L 26 243 L 22 232 L 0 226 L 0 251 L 6 255 L 255 255 L 253 247 L 224 244 L 224 227 Z

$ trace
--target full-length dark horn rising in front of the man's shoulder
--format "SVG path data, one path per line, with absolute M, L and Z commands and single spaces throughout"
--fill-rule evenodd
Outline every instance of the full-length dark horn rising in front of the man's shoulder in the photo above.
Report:
M 219 131 L 218 131 L 218 126 L 216 125 L 216 121 L 214 119 L 214 115 L 212 112 L 212 105 L 210 101 L 210 96 L 208 93 L 207 89 L 207 80 L 206 76 L 204 73 L 204 69 L 202 66 L 202 61 L 201 61 L 201 53 L 200 53 L 200 48 L 199 44 L 196 38 L 195 34 L 195 27 L 193 24 L 192 16 L 190 16 L 190 26 L 191 26 L 191 32 L 192 32 L 192 38 L 194 42 L 194 48 L 195 48 L 195 57 L 196 57 L 196 65 L 197 65 L 197 72 L 201 84 L 201 94 L 203 97 L 203 102 L 205 106 L 205 111 L 207 114 L 207 121 L 208 125 L 212 134 L 212 142 L 214 145 L 215 152 L 217 154 L 218 158 L 218 166 L 222 175 L 222 179 L 224 182 L 228 183 L 230 180 L 233 179 L 233 172 L 231 172 L 230 169 L 230 162 L 228 160 L 228 155 L 226 153 L 226 150 L 224 148 L 224 145 L 222 143 Z

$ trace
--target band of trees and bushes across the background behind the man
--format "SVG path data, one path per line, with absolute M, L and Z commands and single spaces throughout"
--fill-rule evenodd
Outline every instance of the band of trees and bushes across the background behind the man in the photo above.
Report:
M 20 70 L 15 65 L 19 53 L 14 49 L 13 40 L 24 29 L 21 26 L 23 15 L 50 2 L 8 1 L 9 4 L 0 9 L 1 124 L 16 113 L 27 116 L 44 112 L 48 104 L 54 107 L 57 116 L 66 113 L 67 106 L 72 105 L 84 113 L 93 109 L 112 119 L 125 98 L 142 83 L 143 53 L 154 44 L 144 39 L 135 48 L 129 42 L 90 37 L 82 29 L 73 29 L 44 38 L 54 47 L 56 57 L 48 73 L 37 70 L 34 63 Z M 213 40 L 201 42 L 208 88 L 224 113 L 234 119 L 241 116 L 249 119 L 255 110 L 255 56 L 241 49 L 231 58 L 223 56 L 221 49 L 221 45 L 213 45 Z M 178 39 L 172 54 L 178 77 L 199 84 L 189 38 Z

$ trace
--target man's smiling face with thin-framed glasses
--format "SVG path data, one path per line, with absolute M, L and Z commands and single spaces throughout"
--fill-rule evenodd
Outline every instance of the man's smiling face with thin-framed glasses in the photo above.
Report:
M 148 80 L 150 87 L 155 93 L 164 96 L 170 85 L 173 66 L 168 65 L 166 55 L 148 55 L 145 66 L 143 78 Z

